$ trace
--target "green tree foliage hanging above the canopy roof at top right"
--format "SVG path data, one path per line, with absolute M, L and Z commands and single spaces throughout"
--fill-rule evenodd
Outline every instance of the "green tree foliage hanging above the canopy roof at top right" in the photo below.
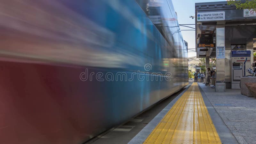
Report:
M 240 0 L 227 0 L 228 5 L 236 5 L 236 9 L 253 9 L 256 11 L 256 0 L 245 0 L 245 3 L 242 3 Z

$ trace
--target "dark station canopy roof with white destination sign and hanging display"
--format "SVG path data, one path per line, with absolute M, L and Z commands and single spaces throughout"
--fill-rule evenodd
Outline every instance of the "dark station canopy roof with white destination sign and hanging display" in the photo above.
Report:
M 196 3 L 196 57 L 216 57 L 216 27 L 256 26 L 256 12 L 227 2 Z M 246 34 L 244 34 L 246 35 Z M 256 38 L 253 39 L 256 51 Z

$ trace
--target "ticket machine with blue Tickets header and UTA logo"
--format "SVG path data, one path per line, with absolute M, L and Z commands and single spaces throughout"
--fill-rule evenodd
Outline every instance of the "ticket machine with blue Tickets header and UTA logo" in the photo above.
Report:
M 247 70 L 251 68 L 251 51 L 232 51 L 231 62 L 231 88 L 240 89 L 241 77 L 250 75 Z

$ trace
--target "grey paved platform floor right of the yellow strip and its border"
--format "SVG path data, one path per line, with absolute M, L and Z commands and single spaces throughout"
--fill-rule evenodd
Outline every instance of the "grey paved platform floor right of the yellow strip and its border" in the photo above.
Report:
M 241 144 L 256 144 L 256 99 L 247 97 L 237 89 L 215 92 L 198 83 L 214 109 Z

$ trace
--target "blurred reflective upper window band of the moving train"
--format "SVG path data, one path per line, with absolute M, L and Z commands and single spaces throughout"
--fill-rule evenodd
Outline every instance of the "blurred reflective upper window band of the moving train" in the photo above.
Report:
M 187 58 L 187 48 L 181 35 L 178 18 L 171 0 L 136 0 L 162 34 L 175 57 Z

